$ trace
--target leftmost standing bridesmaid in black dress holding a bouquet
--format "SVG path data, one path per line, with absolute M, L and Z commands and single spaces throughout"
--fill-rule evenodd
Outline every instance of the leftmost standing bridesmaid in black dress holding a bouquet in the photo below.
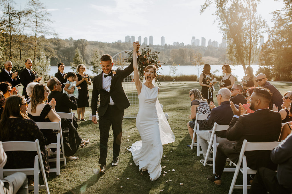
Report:
M 205 64 L 204 70 L 202 71 L 203 73 L 201 73 L 200 78 L 199 78 L 200 86 L 202 86 L 202 89 L 201 89 L 202 96 L 204 99 L 207 99 L 208 104 L 210 102 L 214 102 L 213 90 L 211 90 L 211 92 L 208 92 L 209 88 L 212 88 L 212 85 L 207 84 L 207 80 L 206 80 L 207 76 L 212 76 L 212 74 L 210 73 L 210 70 L 211 70 L 211 66 L 209 64 Z M 208 93 L 209 93 L 209 98 L 208 98 Z

